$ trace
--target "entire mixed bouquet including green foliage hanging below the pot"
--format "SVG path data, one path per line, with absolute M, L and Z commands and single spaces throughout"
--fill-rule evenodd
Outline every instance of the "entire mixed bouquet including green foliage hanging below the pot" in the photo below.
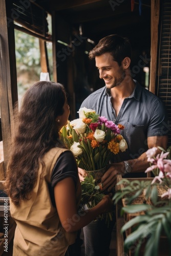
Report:
M 91 109 L 81 108 L 78 113 L 78 119 L 68 121 L 68 124 L 62 127 L 60 138 L 73 152 L 78 167 L 88 173 L 81 182 L 81 203 L 91 208 L 104 196 L 101 193 L 100 178 L 106 165 L 113 154 L 126 150 L 127 143 L 120 135 L 123 125 L 116 125 Z

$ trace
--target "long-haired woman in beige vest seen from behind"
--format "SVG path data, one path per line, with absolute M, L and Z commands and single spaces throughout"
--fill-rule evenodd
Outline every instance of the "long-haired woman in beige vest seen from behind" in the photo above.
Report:
M 6 179 L 17 224 L 13 255 L 66 255 L 76 231 L 112 208 L 105 196 L 94 208 L 79 210 L 77 164 L 58 134 L 69 114 L 62 84 L 40 81 L 26 92 L 15 118 Z

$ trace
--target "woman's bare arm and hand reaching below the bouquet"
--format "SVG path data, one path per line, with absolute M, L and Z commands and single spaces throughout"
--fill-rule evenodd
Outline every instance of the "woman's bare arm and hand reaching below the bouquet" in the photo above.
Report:
M 75 184 L 70 177 L 56 184 L 54 187 L 54 196 L 60 222 L 67 232 L 79 230 L 89 224 L 99 214 L 111 211 L 113 207 L 113 201 L 107 195 L 95 207 L 78 212 Z

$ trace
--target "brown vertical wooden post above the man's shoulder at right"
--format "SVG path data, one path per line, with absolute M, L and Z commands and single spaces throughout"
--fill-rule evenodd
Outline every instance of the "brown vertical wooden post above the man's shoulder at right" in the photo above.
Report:
M 160 0 L 151 0 L 151 62 L 149 91 L 155 94 Z

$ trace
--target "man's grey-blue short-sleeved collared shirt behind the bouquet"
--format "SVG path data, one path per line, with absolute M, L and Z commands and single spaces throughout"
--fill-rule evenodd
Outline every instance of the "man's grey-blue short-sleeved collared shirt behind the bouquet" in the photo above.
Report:
M 110 90 L 106 87 L 93 92 L 81 104 L 81 108 L 85 106 L 116 124 L 124 125 L 121 135 L 129 148 L 115 155 L 115 162 L 139 157 L 148 150 L 147 137 L 164 136 L 168 133 L 167 114 L 163 102 L 134 81 L 134 92 L 124 99 L 117 117 L 112 108 Z

